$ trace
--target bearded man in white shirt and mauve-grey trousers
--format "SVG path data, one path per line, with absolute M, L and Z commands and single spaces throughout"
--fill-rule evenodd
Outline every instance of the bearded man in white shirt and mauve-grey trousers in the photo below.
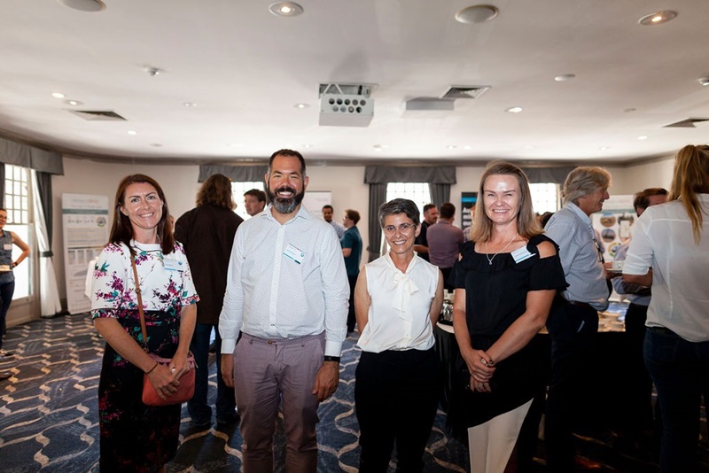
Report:
M 273 153 L 266 182 L 271 204 L 242 224 L 231 252 L 222 376 L 241 413 L 242 470 L 273 471 L 282 402 L 285 470 L 315 472 L 317 407 L 338 387 L 347 335 L 347 272 L 335 232 L 301 205 L 300 152 Z

